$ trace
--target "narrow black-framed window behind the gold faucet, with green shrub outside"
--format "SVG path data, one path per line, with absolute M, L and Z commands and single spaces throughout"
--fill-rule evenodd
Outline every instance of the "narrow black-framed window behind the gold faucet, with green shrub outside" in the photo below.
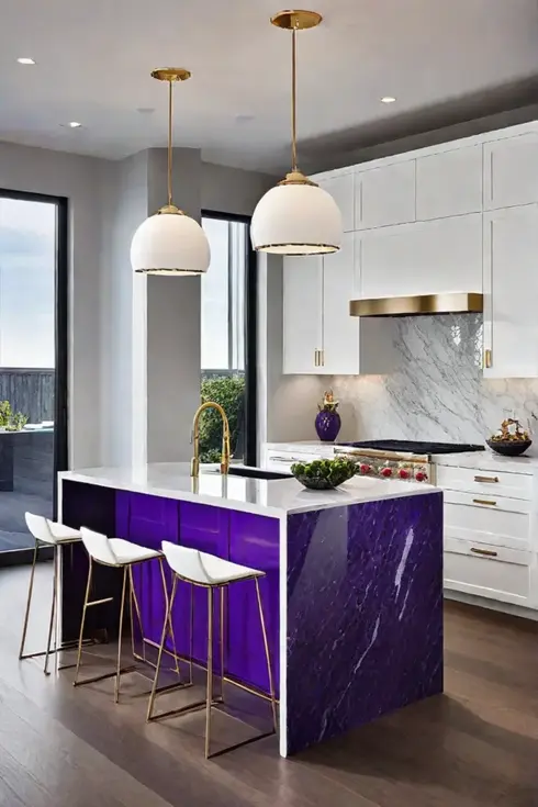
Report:
M 256 256 L 249 220 L 205 213 L 211 266 L 202 277 L 202 400 L 220 403 L 229 421 L 234 460 L 256 462 Z M 208 412 L 202 460 L 217 461 L 222 427 Z

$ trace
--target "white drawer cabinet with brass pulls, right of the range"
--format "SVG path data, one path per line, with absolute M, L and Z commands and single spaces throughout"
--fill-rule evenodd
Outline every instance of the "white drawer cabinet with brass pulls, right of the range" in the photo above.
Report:
M 537 608 L 533 474 L 441 466 L 437 484 L 445 494 L 445 587 Z

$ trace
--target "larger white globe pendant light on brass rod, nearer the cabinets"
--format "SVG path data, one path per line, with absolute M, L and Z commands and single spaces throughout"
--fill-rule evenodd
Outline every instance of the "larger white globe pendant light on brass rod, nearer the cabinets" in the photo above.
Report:
M 296 32 L 322 22 L 315 11 L 279 11 L 271 23 L 291 31 L 292 169 L 258 202 L 250 226 L 257 251 L 277 255 L 336 253 L 341 244 L 341 214 L 333 197 L 307 179 L 296 162 Z

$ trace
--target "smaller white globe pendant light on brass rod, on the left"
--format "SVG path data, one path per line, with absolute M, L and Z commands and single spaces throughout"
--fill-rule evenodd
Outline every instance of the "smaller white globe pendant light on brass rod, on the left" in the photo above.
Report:
M 182 67 L 152 72 L 168 81 L 168 204 L 146 218 L 133 236 L 131 264 L 144 274 L 203 274 L 210 265 L 210 245 L 202 227 L 172 202 L 172 92 L 176 81 L 191 77 Z

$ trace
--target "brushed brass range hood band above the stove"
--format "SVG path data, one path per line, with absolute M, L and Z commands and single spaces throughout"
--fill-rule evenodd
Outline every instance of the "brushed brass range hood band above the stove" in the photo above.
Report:
M 484 296 L 478 292 L 415 294 L 405 298 L 351 300 L 351 316 L 419 316 L 421 314 L 473 314 L 484 310 Z

